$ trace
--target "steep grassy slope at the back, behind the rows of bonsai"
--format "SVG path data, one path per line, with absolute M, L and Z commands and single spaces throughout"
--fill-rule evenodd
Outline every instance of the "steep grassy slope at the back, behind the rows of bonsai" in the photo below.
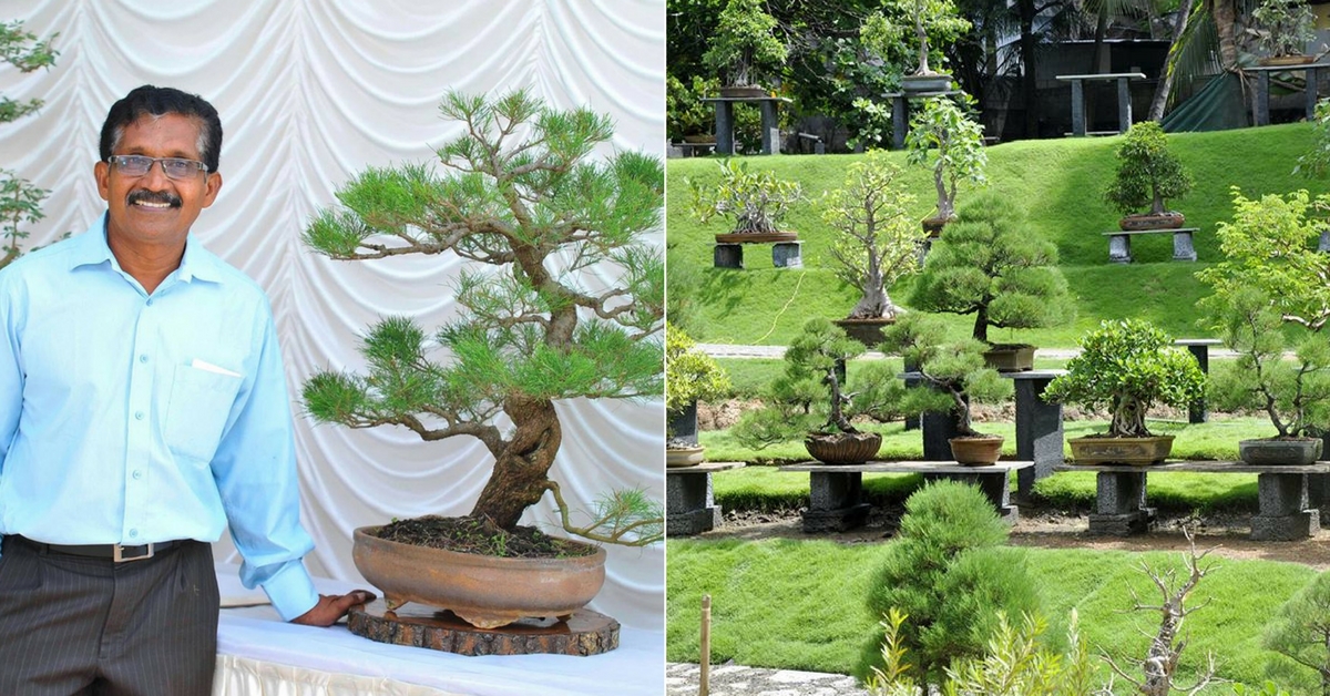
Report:
M 1121 137 L 1019 141 L 990 148 L 991 186 L 1023 202 L 1032 233 L 1057 244 L 1063 270 L 1077 297 L 1079 317 L 1067 326 L 999 331 L 995 339 L 1019 338 L 1044 346 L 1073 346 L 1076 338 L 1101 318 L 1145 317 L 1174 335 L 1197 335 L 1196 299 L 1205 286 L 1192 274 L 1218 258 L 1216 222 L 1230 217 L 1229 186 L 1238 185 L 1249 197 L 1315 188 L 1291 174 L 1293 161 L 1306 150 L 1306 124 L 1248 128 L 1220 133 L 1169 136 L 1174 152 L 1196 178 L 1196 188 L 1170 206 L 1188 216 L 1188 226 L 1200 228 L 1196 249 L 1200 263 L 1176 263 L 1172 238 L 1146 236 L 1133 241 L 1138 263 L 1109 265 L 1108 242 L 1100 234 L 1116 229 L 1117 213 L 1100 197 L 1113 172 L 1113 153 Z M 810 198 L 841 186 L 846 164 L 858 156 L 750 157 L 749 166 L 771 169 L 801 181 Z M 906 169 L 904 182 L 918 197 L 915 214 L 931 212 L 932 186 L 927 172 L 904 164 L 904 153 L 892 160 Z M 829 267 L 829 228 L 815 206 L 799 206 L 786 221 L 803 240 L 803 270 L 774 269 L 769 245 L 745 249 L 745 270 L 712 267 L 712 234 L 728 232 L 724 221 L 700 225 L 688 214 L 690 193 L 685 178 L 717 180 L 713 160 L 669 160 L 666 225 L 669 267 L 692 267 L 700 286 L 692 293 L 700 309 L 690 331 L 705 342 L 785 345 L 806 317 L 843 317 L 857 293 L 841 283 Z M 958 200 L 964 205 L 966 190 Z M 908 282 L 908 281 L 907 281 Z M 904 283 L 902 283 L 904 285 Z M 907 295 L 894 289 L 894 298 Z M 958 335 L 968 333 L 970 318 L 954 318 Z

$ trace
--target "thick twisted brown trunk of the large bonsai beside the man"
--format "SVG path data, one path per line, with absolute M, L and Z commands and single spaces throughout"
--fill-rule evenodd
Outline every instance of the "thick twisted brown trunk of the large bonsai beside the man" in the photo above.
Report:
M 512 531 L 523 511 L 545 494 L 547 474 L 559 454 L 563 431 L 555 403 L 548 399 L 513 398 L 504 403 L 504 413 L 515 430 L 503 450 L 495 452 L 493 472 L 471 516 Z

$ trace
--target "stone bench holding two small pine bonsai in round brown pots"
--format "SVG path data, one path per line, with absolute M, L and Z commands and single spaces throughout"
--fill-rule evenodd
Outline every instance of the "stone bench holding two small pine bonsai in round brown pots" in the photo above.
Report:
M 866 462 L 862 464 L 822 464 L 806 462 L 779 467 L 779 471 L 809 475 L 809 507 L 803 511 L 803 531 L 845 531 L 862 527 L 872 507 L 863 500 L 864 474 L 923 474 L 926 480 L 951 479 L 979 486 L 1001 518 L 1015 524 L 1019 516 L 1011 502 L 1008 474 L 1035 466 L 1033 462 L 998 462 L 992 466 L 963 466 L 956 462 Z

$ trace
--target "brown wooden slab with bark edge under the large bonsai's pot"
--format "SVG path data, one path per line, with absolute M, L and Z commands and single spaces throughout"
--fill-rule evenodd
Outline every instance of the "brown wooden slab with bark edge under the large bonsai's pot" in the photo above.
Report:
M 618 621 L 591 609 L 567 620 L 523 619 L 500 628 L 476 628 L 450 611 L 407 604 L 390 611 L 382 599 L 352 607 L 347 629 L 378 643 L 458 655 L 601 655 L 618 647 Z

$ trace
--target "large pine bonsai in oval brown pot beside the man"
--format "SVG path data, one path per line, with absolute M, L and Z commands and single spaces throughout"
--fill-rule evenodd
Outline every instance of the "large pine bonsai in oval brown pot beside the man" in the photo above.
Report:
M 319 371 L 305 407 L 319 423 L 475 438 L 488 451 L 468 515 L 355 531 L 356 568 L 388 608 L 418 602 L 480 628 L 568 617 L 600 590 L 605 550 L 520 526 L 528 507 L 552 496 L 563 531 L 597 543 L 662 536 L 661 506 L 640 490 L 606 494 L 588 506 L 591 523 L 575 524 L 548 475 L 563 438 L 556 402 L 661 393 L 664 263 L 644 236 L 660 228 L 662 166 L 638 152 L 592 160 L 610 141 L 609 117 L 525 90 L 450 92 L 440 110 L 462 122 L 438 150 L 444 173 L 370 168 L 303 240 L 334 260 L 466 260 L 455 289 L 466 310 L 432 334 L 379 321 L 363 338 L 364 370 Z

